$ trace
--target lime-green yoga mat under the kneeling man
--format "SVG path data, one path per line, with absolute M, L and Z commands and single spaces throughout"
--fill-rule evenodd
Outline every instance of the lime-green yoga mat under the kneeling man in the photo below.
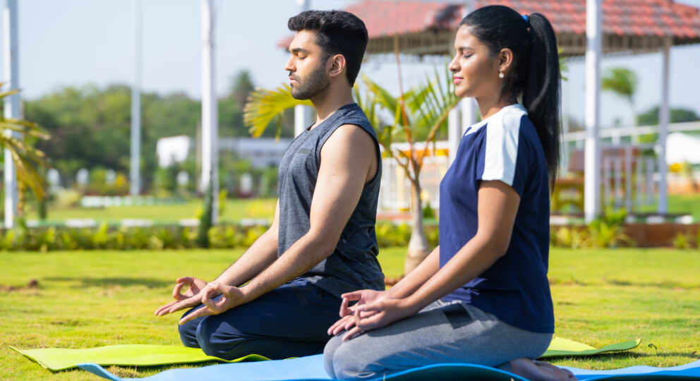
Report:
M 624 343 L 611 344 L 601 349 L 555 337 L 549 349 L 542 357 L 555 356 L 591 356 L 608 351 L 626 351 L 639 345 L 636 339 Z M 214 356 L 207 356 L 201 349 L 184 346 L 165 346 L 150 344 L 124 344 L 100 346 L 92 349 L 11 349 L 40 363 L 52 371 L 76 368 L 79 363 L 97 363 L 99 365 L 149 366 L 182 363 L 203 363 L 205 361 L 220 361 L 224 363 L 239 363 L 241 361 L 269 360 L 264 356 L 251 354 L 245 357 L 227 361 Z

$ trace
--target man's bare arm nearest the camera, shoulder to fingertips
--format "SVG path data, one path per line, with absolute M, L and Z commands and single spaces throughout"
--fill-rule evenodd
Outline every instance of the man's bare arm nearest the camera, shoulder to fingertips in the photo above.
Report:
M 210 294 L 222 292 L 226 298 L 218 302 L 203 300 L 209 309 L 202 308 L 183 318 L 180 323 L 248 303 L 310 270 L 333 253 L 365 183 L 377 173 L 377 166 L 373 138 L 358 126 L 339 127 L 321 149 L 321 164 L 307 234 L 246 287 L 237 289 L 222 284 L 210 285 Z

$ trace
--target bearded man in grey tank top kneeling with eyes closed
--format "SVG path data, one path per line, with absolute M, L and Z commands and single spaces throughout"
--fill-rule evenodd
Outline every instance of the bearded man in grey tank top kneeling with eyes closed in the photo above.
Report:
M 374 231 L 379 145 L 351 92 L 367 30 L 344 11 L 305 11 L 289 29 L 297 32 L 285 67 L 291 94 L 310 99 L 318 119 L 284 154 L 274 222 L 214 282 L 177 279 L 176 301 L 155 312 L 195 307 L 180 336 L 211 356 L 322 353 L 340 295 L 384 289 Z

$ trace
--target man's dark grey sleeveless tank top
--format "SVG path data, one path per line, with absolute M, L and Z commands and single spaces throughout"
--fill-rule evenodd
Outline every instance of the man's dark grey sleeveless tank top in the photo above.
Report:
M 375 234 L 382 162 L 374 128 L 357 104 L 346 104 L 292 141 L 279 164 L 278 174 L 279 257 L 310 229 L 311 199 L 321 164 L 321 147 L 344 124 L 359 126 L 372 136 L 378 159 L 377 174 L 365 184 L 333 253 L 301 276 L 338 297 L 358 289 L 384 289 Z

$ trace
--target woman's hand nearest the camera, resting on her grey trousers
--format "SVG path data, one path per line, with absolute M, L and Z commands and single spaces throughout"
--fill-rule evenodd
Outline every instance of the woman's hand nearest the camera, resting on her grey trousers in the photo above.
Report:
M 343 336 L 348 341 L 358 334 L 386 327 L 418 312 L 406 299 L 383 298 L 380 301 L 358 306 L 353 313 L 355 326 Z M 369 316 L 367 316 L 369 315 Z

